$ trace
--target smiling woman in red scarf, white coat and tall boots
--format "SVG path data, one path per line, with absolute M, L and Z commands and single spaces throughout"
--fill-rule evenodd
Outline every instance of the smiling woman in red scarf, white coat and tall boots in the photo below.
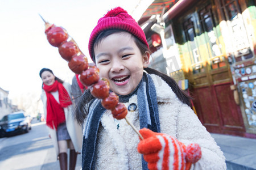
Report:
M 57 78 L 47 68 L 40 70 L 39 75 L 43 81 L 41 99 L 44 117 L 60 169 L 68 169 L 68 148 L 69 169 L 75 169 L 77 152 L 81 151 L 82 146 L 82 128 L 72 116 L 71 85 Z

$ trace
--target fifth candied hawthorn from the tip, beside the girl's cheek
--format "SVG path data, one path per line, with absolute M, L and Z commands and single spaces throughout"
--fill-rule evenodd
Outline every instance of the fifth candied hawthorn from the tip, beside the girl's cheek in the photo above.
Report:
M 108 79 L 101 79 L 97 83 L 93 84 L 93 87 L 90 88 L 90 93 L 98 98 L 105 99 L 109 96 L 109 82 Z

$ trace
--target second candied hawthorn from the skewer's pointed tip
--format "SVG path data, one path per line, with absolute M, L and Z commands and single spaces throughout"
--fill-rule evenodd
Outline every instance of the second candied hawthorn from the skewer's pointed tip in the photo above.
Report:
M 70 61 L 72 56 L 79 53 L 80 50 L 74 41 L 64 42 L 59 46 L 60 56 L 66 61 Z

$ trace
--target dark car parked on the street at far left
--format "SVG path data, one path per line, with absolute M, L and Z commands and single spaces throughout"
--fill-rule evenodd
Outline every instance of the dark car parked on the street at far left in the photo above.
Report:
M 31 122 L 24 116 L 24 112 L 14 112 L 3 116 L 0 121 L 0 134 L 8 136 L 16 133 L 28 133 Z

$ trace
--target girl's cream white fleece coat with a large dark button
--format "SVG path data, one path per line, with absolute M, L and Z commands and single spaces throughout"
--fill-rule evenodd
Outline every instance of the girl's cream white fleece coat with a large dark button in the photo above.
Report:
M 172 135 L 185 145 L 200 145 L 202 158 L 191 169 L 226 169 L 223 152 L 192 109 L 181 103 L 159 76 L 151 77 L 156 87 L 161 133 Z M 137 95 L 133 95 L 125 103 L 126 107 L 131 103 L 137 104 Z M 140 129 L 138 107 L 134 112 L 128 112 L 126 117 Z M 137 151 L 138 143 L 138 135 L 127 122 L 124 119 L 114 120 L 111 112 L 106 111 L 98 132 L 96 169 L 142 169 L 142 155 Z

